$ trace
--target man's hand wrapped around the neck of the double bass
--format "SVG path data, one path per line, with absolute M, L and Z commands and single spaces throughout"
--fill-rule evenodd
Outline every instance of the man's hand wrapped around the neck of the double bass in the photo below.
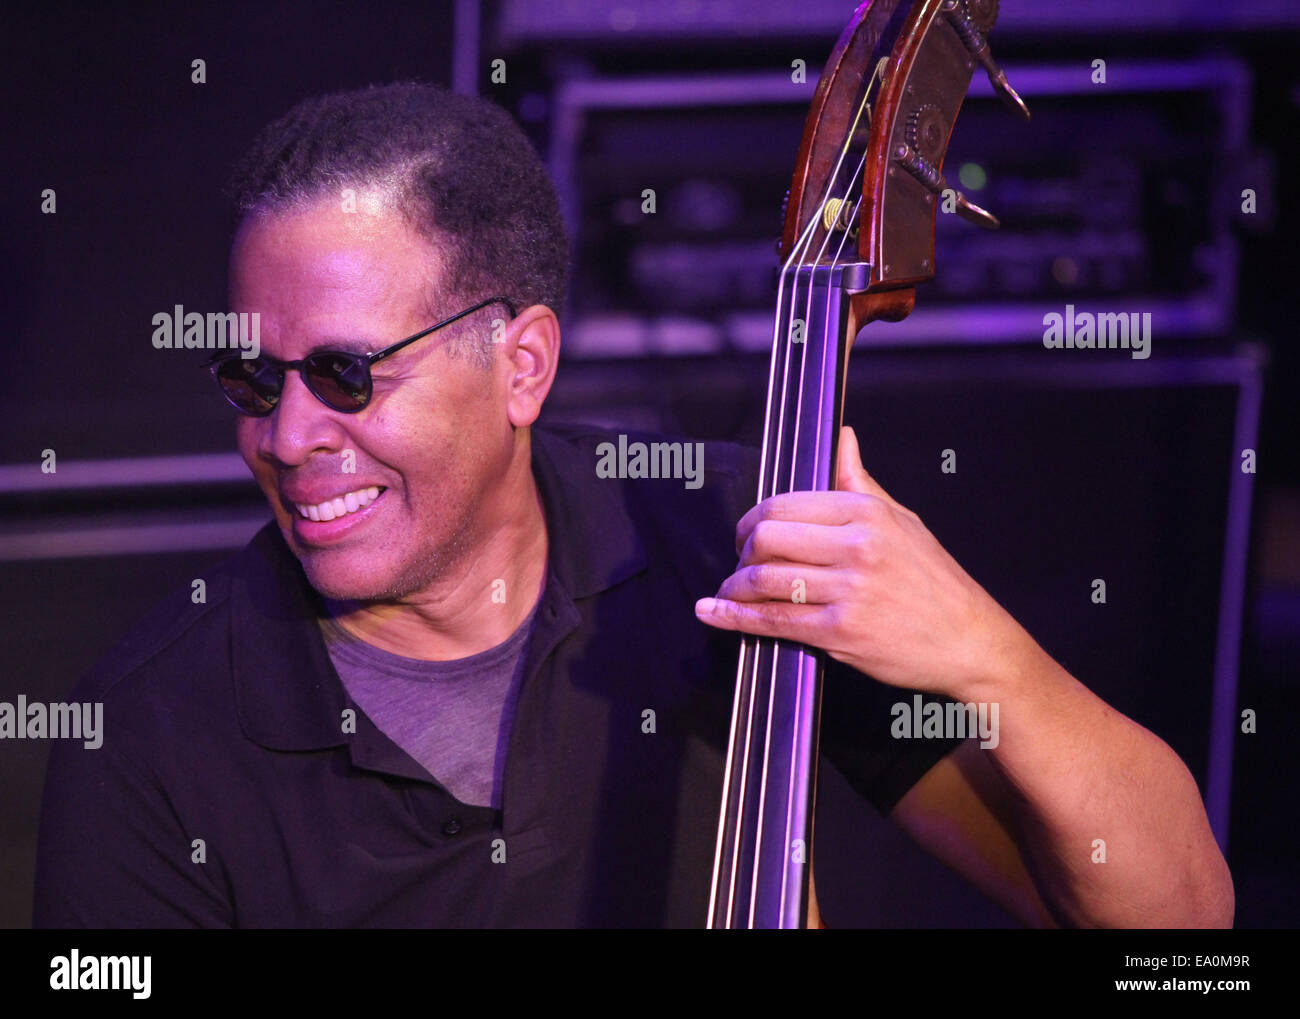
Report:
M 740 564 L 696 613 L 820 647 L 892 686 L 979 699 L 982 681 L 1032 638 L 867 473 L 852 428 L 840 430 L 836 487 L 745 513 Z

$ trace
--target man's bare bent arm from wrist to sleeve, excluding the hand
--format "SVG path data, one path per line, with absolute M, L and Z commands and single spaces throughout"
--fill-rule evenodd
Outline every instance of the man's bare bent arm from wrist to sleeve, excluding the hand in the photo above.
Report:
M 985 694 L 997 747 L 967 741 L 890 818 L 1034 927 L 1231 927 L 1232 877 L 1187 767 L 1034 649 Z

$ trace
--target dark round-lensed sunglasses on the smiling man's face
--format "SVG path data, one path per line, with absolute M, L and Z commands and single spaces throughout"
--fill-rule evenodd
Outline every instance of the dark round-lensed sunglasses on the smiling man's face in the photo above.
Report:
M 422 329 L 413 337 L 399 339 L 391 347 L 377 354 L 354 354 L 351 351 L 316 351 L 298 361 L 281 361 L 277 357 L 244 357 L 240 354 L 220 354 L 204 361 L 212 372 L 222 395 L 239 413 L 251 417 L 265 417 L 276 409 L 280 394 L 285 391 L 285 372 L 296 370 L 303 377 L 308 391 L 326 407 L 341 413 L 356 413 L 370 402 L 374 391 L 370 380 L 370 365 L 417 339 L 424 339 L 458 318 L 473 315 L 489 304 L 504 304 L 510 317 L 515 317 L 515 305 L 508 298 L 488 298 L 472 308 L 456 312 L 437 325 Z

